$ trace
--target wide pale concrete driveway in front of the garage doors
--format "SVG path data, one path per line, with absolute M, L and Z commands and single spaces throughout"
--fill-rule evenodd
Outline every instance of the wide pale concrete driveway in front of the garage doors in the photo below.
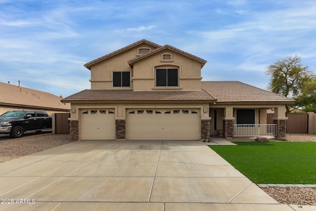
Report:
M 200 141 L 78 141 L 14 159 L 0 164 L 0 199 L 0 210 L 293 211 Z

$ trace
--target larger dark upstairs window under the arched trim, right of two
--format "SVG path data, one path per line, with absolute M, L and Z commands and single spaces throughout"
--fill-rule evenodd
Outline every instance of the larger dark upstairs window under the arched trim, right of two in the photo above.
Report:
M 156 86 L 179 86 L 178 68 L 157 68 Z

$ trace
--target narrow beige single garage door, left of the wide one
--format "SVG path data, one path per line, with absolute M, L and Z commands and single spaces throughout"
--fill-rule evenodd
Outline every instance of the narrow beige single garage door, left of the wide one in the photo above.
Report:
M 81 140 L 114 140 L 115 138 L 114 109 L 81 109 Z

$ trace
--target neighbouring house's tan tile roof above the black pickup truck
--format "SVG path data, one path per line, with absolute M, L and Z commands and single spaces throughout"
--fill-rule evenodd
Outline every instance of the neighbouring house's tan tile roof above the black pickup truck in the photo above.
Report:
M 61 97 L 47 92 L 0 82 L 0 105 L 70 110 L 70 104 L 60 100 Z

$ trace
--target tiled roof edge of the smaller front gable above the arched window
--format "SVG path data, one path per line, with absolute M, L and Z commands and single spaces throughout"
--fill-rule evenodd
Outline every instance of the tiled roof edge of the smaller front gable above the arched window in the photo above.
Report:
M 191 54 L 191 53 L 187 53 L 187 52 L 185 52 L 185 51 L 183 51 L 183 50 L 180 50 L 180 49 L 178 49 L 178 48 L 176 48 L 176 47 L 173 47 L 173 46 L 171 46 L 171 45 L 166 44 L 166 45 L 160 46 L 160 47 L 158 47 L 158 48 L 156 48 L 156 49 L 154 49 L 154 50 L 152 50 L 152 51 L 150 51 L 150 52 L 148 52 L 148 53 L 144 53 L 144 54 L 141 55 L 141 56 L 137 56 L 137 57 L 135 57 L 135 58 L 129 60 L 127 63 L 128 63 L 129 65 L 132 65 L 134 62 L 139 61 L 139 60 L 141 60 L 141 59 L 143 59 L 143 58 L 146 58 L 146 57 L 148 57 L 148 56 L 150 56 L 150 55 L 153 55 L 153 54 L 155 54 L 155 53 L 157 53 L 157 52 L 159 52 L 159 51 L 161 51 L 161 50 L 164 50 L 164 49 L 170 49 L 170 50 L 173 50 L 173 51 L 175 51 L 175 52 L 181 53 L 181 54 L 183 54 L 183 55 L 185 55 L 185 56 L 188 56 L 188 57 L 190 57 L 190 58 L 193 58 L 193 59 L 195 59 L 195 60 L 197 60 L 197 61 L 199 61 L 199 62 L 202 63 L 202 64 L 201 64 L 201 67 L 203 67 L 204 64 L 207 62 L 206 60 L 201 59 L 201 58 L 199 58 L 199 57 L 197 57 L 197 56 L 195 56 L 195 55 L 193 55 L 193 54 Z

